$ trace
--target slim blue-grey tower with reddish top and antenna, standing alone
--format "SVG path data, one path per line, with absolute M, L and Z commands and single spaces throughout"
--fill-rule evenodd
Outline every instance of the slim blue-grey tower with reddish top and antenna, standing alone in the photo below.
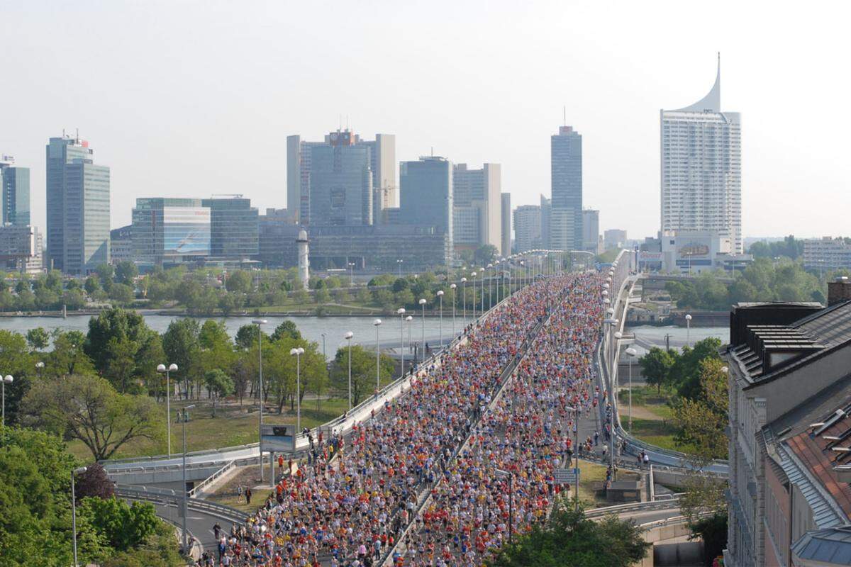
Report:
M 550 138 L 551 222 L 548 247 L 582 247 L 582 136 L 571 126 Z

